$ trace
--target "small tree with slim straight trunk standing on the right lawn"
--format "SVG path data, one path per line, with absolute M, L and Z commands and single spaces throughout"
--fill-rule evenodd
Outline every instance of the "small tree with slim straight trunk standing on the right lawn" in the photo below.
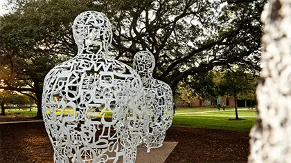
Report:
M 254 87 L 253 80 L 254 77 L 251 78 L 250 75 L 246 75 L 246 73 L 242 70 L 236 70 L 236 72 L 227 70 L 222 76 L 222 80 L 219 84 L 220 91 L 222 95 L 229 95 L 234 97 L 236 119 L 239 119 L 236 101 L 238 99 L 238 95 L 244 95 L 251 91 L 254 91 L 256 87 Z

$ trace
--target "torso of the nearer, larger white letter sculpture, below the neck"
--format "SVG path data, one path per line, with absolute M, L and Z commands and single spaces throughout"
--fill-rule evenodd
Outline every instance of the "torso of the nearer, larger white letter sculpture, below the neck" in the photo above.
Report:
M 120 148 L 119 139 L 130 113 L 128 105 L 139 100 L 132 98 L 138 98 L 141 90 L 141 81 L 129 66 L 88 56 L 53 68 L 44 86 L 43 113 L 53 145 L 66 148 L 79 160 L 87 146 L 100 154 Z M 103 157 L 107 159 L 107 155 Z

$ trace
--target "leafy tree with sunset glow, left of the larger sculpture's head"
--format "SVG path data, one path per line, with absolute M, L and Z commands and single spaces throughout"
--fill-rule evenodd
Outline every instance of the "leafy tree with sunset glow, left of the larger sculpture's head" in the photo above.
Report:
M 93 9 L 87 1 L 12 3 L 14 12 L 0 18 L 1 88 L 34 99 L 37 117 L 42 117 L 44 77 L 55 65 L 76 55 L 71 23 L 80 12 Z

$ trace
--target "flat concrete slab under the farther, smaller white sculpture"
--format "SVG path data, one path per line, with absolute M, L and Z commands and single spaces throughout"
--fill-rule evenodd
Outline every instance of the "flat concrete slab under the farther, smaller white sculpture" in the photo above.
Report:
M 159 148 L 151 148 L 150 153 L 147 153 L 147 148 L 142 144 L 137 148 L 136 163 L 163 163 L 177 144 L 178 142 L 164 142 Z M 123 163 L 123 157 L 118 159 L 118 163 Z

